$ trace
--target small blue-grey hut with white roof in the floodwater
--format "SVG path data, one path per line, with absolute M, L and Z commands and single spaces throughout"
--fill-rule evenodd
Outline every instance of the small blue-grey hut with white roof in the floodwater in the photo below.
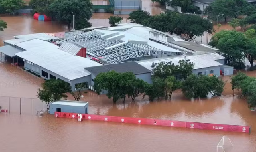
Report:
M 88 102 L 55 100 L 50 103 L 50 114 L 55 112 L 88 114 Z

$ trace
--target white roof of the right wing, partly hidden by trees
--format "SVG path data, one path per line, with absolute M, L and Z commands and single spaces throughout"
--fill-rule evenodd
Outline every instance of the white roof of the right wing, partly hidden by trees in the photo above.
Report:
M 138 63 L 145 68 L 152 70 L 151 65 L 152 63 L 160 63 L 160 62 L 172 62 L 174 65 L 178 65 L 180 60 L 183 60 L 184 57 L 176 57 L 176 58 L 167 58 L 167 59 L 155 59 L 150 61 L 139 61 Z M 220 66 L 219 62 L 215 60 L 225 59 L 223 56 L 219 55 L 218 53 L 208 53 L 208 54 L 201 54 L 201 55 L 191 55 L 186 56 L 186 59 L 190 59 L 190 62 L 194 63 L 194 69 L 202 69 L 208 68 L 212 66 Z

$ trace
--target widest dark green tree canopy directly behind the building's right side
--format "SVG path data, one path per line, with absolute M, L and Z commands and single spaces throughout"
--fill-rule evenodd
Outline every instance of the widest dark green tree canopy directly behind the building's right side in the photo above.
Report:
M 142 24 L 162 32 L 169 32 L 170 34 L 184 34 L 189 39 L 195 39 L 196 36 L 202 35 L 205 31 L 211 34 L 214 32 L 213 24 L 206 19 L 196 15 L 180 14 L 171 11 L 149 17 Z

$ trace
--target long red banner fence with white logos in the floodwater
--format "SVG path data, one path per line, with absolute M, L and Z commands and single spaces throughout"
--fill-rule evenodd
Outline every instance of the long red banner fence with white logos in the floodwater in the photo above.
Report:
M 55 112 L 55 117 L 77 119 L 78 113 Z M 82 119 L 121 122 L 121 123 L 134 123 L 134 124 L 149 124 L 149 125 L 193 128 L 193 129 L 222 130 L 222 131 L 249 133 L 249 134 L 251 132 L 251 127 L 249 126 L 229 125 L 229 124 L 185 122 L 185 121 L 172 121 L 172 120 L 162 120 L 162 119 L 116 117 L 116 116 L 102 116 L 102 115 L 90 115 L 90 114 L 82 114 Z

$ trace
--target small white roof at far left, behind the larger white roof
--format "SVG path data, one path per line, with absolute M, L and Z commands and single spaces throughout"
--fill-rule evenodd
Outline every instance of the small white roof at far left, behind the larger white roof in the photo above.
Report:
M 40 39 L 40 40 L 56 40 L 59 37 L 55 37 L 46 33 L 34 33 L 34 34 L 26 34 L 26 35 L 17 35 L 14 36 L 17 39 Z

